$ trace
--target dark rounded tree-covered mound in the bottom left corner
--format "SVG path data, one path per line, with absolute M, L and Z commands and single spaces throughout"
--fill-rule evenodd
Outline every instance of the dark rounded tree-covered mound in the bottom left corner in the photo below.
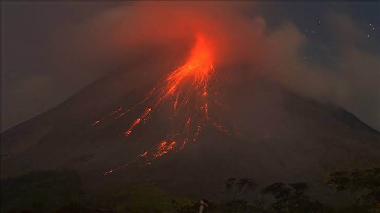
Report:
M 1 181 L 1 211 L 47 212 L 77 200 L 81 181 L 76 171 L 31 171 Z

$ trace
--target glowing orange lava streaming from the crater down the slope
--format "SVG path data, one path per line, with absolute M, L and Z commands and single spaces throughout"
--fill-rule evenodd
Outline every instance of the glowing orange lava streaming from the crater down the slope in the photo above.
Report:
M 147 122 L 151 117 L 151 113 L 157 111 L 157 108 L 166 101 L 171 102 L 170 106 L 173 111 L 173 118 L 176 122 L 182 123 L 180 129 L 175 130 L 170 136 L 168 135 L 166 139 L 161 140 L 161 143 L 156 147 L 139 154 L 128 164 L 105 172 L 104 175 L 124 168 L 125 166 L 134 163 L 138 158 L 143 159 L 144 164 L 142 165 L 148 165 L 151 164 L 151 161 L 157 160 L 177 147 L 179 147 L 178 150 L 182 150 L 189 141 L 190 133 L 193 133 L 191 134 L 193 135 L 192 140 L 194 142 L 196 141 L 203 129 L 202 127 L 206 126 L 206 123 L 208 123 L 211 105 L 213 103 L 218 103 L 213 96 L 213 94 L 216 94 L 217 92 L 209 91 L 210 82 L 212 80 L 215 80 L 216 82 L 213 64 L 213 49 L 201 34 L 198 34 L 196 38 L 195 45 L 191 50 L 189 59 L 186 63 L 170 72 L 164 80 L 151 89 L 141 102 L 126 111 L 121 111 L 120 108 L 107 117 L 93 123 L 93 126 L 97 125 L 104 119 L 119 112 L 115 118 L 118 119 L 142 104 L 150 104 L 151 106 L 146 108 L 141 116 L 136 118 L 132 125 L 124 132 L 124 135 L 129 137 L 138 125 Z M 208 102 L 209 100 L 212 101 Z M 228 133 L 222 125 L 218 124 L 215 126 L 220 131 Z M 176 141 L 181 141 L 182 145 L 177 146 Z M 149 155 L 148 153 L 151 154 Z

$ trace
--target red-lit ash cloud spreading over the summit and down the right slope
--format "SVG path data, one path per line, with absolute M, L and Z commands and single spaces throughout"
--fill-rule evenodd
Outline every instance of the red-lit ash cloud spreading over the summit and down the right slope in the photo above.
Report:
M 179 65 L 194 35 L 203 33 L 214 49 L 217 68 L 245 64 L 252 79 L 265 76 L 306 97 L 342 106 L 378 129 L 380 55 L 358 47 L 363 33 L 357 22 L 343 13 L 328 14 L 340 51 L 318 46 L 335 65 L 325 68 L 300 60 L 302 49 L 310 43 L 301 29 L 286 20 L 268 26 L 264 16 L 252 14 L 257 7 L 240 2 L 118 4 L 54 28 L 43 42 L 42 55 L 46 67 L 56 72 L 48 75 L 52 82 L 60 82 L 63 90 L 80 89 L 141 58 L 149 63 L 152 57 L 160 57 Z M 376 41 L 374 45 L 379 46 Z M 23 81 L 15 84 L 27 86 Z M 38 88 L 25 93 L 40 92 Z M 62 95 L 62 101 L 70 92 Z M 2 117 L 6 113 L 2 109 Z M 3 125 L 2 119 L 2 131 Z

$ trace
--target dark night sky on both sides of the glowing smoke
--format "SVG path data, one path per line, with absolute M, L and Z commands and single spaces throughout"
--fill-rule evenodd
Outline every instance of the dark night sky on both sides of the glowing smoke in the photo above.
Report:
M 105 56 L 86 54 L 82 58 L 71 53 L 78 51 L 75 38 L 79 24 L 131 4 L 2 1 L 1 131 L 57 106 L 117 67 Z M 344 97 L 330 98 L 339 99 L 334 102 L 379 129 L 379 2 L 265 1 L 247 8 L 245 15 L 264 17 L 269 29 L 284 20 L 294 23 L 307 40 L 298 60 L 345 79 Z M 85 32 L 97 33 L 91 25 Z M 96 48 L 81 47 L 88 52 Z M 99 60 L 94 63 L 88 58 Z

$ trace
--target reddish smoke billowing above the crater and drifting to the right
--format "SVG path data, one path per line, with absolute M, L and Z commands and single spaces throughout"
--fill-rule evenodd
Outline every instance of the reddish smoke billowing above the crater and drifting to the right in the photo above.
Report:
M 107 55 L 102 61 L 113 64 L 136 61 L 136 57 L 162 57 L 179 65 L 186 60 L 196 35 L 202 33 L 213 49 L 216 67 L 244 65 L 249 78 L 264 76 L 301 95 L 345 107 L 377 127 L 380 112 L 374 100 L 380 58 L 355 46 L 361 32 L 353 20 L 344 14 L 328 15 L 342 54 L 336 56 L 322 45 L 336 64 L 323 68 L 299 60 L 308 42 L 293 23 L 284 21 L 271 29 L 263 17 L 251 14 L 252 8 L 255 3 L 143 2 L 108 10 L 81 28 L 91 26 L 95 36 L 85 33 L 83 40 L 91 41 L 88 46 L 102 44 L 95 45 L 102 50 L 95 54 Z M 149 49 L 153 46 L 159 50 Z M 84 50 L 82 56 L 88 54 Z

